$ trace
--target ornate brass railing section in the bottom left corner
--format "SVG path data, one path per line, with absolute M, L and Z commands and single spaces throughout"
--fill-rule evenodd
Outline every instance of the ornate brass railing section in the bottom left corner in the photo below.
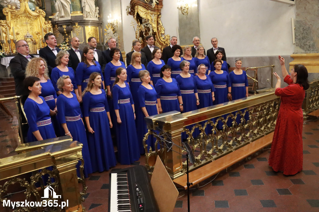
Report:
M 82 146 L 81 143 L 72 141 L 69 136 L 51 138 L 19 145 L 16 149 L 18 155 L 0 159 L 0 207 L 8 200 L 36 202 L 57 200 L 56 207 L 28 206 L 15 208 L 15 211 L 84 211 L 82 202 L 87 187 L 83 175 Z M 76 171 L 78 160 L 82 162 L 80 179 Z M 44 175 L 49 176 L 46 186 L 46 182 L 42 180 Z M 82 192 L 78 180 L 82 183 Z M 21 192 L 22 195 L 18 196 L 8 195 L 13 184 L 15 189 L 24 193 Z M 61 198 L 54 199 L 52 196 L 44 198 L 44 189 L 48 186 L 51 186 L 57 195 L 61 195 Z M 62 201 L 68 202 L 68 206 L 62 208 Z M 4 210 L 11 211 L 10 208 L 6 206 Z

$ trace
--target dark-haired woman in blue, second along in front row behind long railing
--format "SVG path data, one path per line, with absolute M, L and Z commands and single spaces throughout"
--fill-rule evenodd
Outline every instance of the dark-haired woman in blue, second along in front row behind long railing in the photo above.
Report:
M 164 65 L 160 70 L 160 76 L 161 79 L 155 85 L 159 113 L 174 110 L 183 112 L 181 91 L 176 79 L 171 78 L 171 67 Z

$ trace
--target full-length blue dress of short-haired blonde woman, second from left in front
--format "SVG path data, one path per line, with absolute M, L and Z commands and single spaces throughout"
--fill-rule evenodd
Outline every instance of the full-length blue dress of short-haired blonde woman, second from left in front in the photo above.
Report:
M 80 103 L 77 96 L 73 93 L 72 98 L 68 98 L 63 94 L 60 94 L 56 100 L 56 106 L 58 109 L 58 118 L 61 124 L 66 124 L 70 131 L 74 141 L 78 141 L 83 144 L 82 156 L 84 159 L 84 176 L 88 177 L 88 174 L 93 173 L 89 147 L 86 139 L 86 132 L 84 124 L 81 120 L 82 113 L 80 110 Z M 77 165 L 77 173 L 80 176 L 79 165 Z

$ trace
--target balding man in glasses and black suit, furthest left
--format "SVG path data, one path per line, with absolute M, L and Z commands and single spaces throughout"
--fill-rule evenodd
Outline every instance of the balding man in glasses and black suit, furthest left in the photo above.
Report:
M 22 104 L 24 104 L 24 102 L 26 101 L 26 98 L 29 95 L 29 92 L 24 88 L 23 86 L 23 80 L 25 79 L 26 75 L 26 65 L 28 64 L 28 62 L 31 60 L 31 58 L 33 58 L 34 56 L 29 55 L 29 45 L 26 43 L 26 41 L 24 40 L 18 40 L 16 43 L 16 50 L 18 52 L 18 54 L 12 58 L 10 60 L 10 69 L 11 69 L 11 73 L 13 75 L 13 79 L 15 82 L 15 89 L 16 89 L 16 94 L 22 95 L 22 99 L 21 102 Z M 19 114 L 21 114 L 21 121 L 22 123 L 26 123 L 26 119 L 24 117 L 24 115 L 22 115 L 22 111 L 19 108 Z M 28 125 L 24 124 L 22 125 L 22 134 L 23 137 L 26 137 L 27 133 L 28 133 Z M 19 131 L 20 133 L 20 131 Z M 22 136 L 22 135 L 20 135 Z M 26 141 L 26 138 L 25 138 Z

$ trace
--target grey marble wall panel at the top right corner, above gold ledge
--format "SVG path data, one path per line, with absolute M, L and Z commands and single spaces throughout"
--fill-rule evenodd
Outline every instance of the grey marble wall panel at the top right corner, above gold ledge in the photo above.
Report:
M 319 52 L 318 11 L 318 0 L 296 0 L 295 53 Z

